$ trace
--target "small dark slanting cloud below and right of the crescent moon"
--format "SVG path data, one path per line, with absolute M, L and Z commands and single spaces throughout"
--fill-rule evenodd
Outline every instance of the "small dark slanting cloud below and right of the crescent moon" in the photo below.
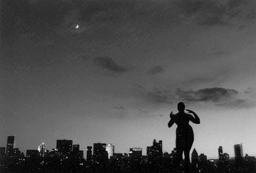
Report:
M 97 66 L 102 67 L 103 69 L 108 69 L 111 72 L 122 73 L 127 72 L 128 69 L 124 68 L 123 66 L 119 66 L 113 61 L 112 58 L 109 57 L 97 57 L 94 58 L 93 63 Z

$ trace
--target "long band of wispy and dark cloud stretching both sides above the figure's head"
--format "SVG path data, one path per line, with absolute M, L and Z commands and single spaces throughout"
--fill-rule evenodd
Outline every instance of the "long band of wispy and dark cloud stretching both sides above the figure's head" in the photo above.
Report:
M 250 104 L 250 101 L 244 99 L 239 91 L 231 88 L 201 88 L 196 91 L 154 88 L 148 91 L 147 96 L 148 101 L 165 104 L 177 101 L 211 103 L 219 107 L 245 107 Z

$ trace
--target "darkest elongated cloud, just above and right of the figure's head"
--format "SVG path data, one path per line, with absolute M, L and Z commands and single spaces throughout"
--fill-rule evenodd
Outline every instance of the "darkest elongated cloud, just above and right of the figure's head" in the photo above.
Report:
M 238 91 L 234 89 L 227 88 L 203 88 L 197 91 L 183 91 L 181 89 L 177 89 L 176 95 L 178 99 L 184 101 L 213 101 L 218 102 L 222 99 L 230 99 L 233 96 L 236 96 Z

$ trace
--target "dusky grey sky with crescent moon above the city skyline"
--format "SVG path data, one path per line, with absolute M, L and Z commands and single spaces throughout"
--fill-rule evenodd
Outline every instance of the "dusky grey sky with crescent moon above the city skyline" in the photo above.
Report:
M 1 0 L 0 27 L 0 146 L 170 152 L 184 101 L 198 153 L 256 155 L 256 1 Z

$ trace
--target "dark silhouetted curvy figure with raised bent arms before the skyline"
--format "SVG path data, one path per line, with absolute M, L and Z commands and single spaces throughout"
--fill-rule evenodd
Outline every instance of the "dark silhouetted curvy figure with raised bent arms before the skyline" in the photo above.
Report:
M 170 112 L 170 121 L 168 123 L 168 127 L 173 126 L 173 123 L 177 124 L 176 128 L 176 161 L 175 166 L 179 166 L 182 160 L 182 153 L 185 155 L 185 172 L 189 172 L 189 151 L 194 142 L 194 133 L 191 126 L 189 126 L 189 120 L 193 123 L 199 124 L 200 119 L 195 112 L 192 110 L 186 109 L 190 115 L 184 112 L 185 104 L 183 102 L 178 103 L 178 113 L 175 115 L 173 112 Z

